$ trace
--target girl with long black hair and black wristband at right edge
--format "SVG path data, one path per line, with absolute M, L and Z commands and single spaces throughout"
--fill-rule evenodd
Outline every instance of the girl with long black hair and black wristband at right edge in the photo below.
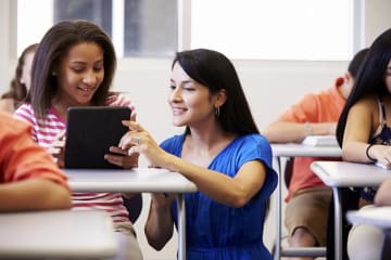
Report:
M 391 161 L 391 29 L 370 46 L 362 70 L 337 127 L 343 159 L 357 162 Z M 368 176 L 370 178 L 370 176 Z M 360 193 L 360 207 L 370 207 L 377 187 Z M 354 225 L 348 238 L 350 259 L 380 259 L 381 231 Z

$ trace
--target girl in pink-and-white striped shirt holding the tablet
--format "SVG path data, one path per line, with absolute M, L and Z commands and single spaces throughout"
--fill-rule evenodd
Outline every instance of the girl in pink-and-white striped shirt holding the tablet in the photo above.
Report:
M 40 41 L 33 63 L 31 88 L 26 103 L 14 115 L 33 126 L 33 139 L 53 154 L 60 167 L 64 161 L 68 107 L 111 105 L 130 106 L 135 110 L 125 96 L 109 92 L 115 67 L 112 41 L 93 23 L 60 22 Z M 117 153 L 111 157 L 111 162 L 124 168 L 137 165 L 138 156 L 127 156 L 127 151 L 121 150 Z M 142 259 L 122 194 L 76 193 L 72 199 L 75 210 L 108 211 L 115 230 L 127 240 L 125 258 Z

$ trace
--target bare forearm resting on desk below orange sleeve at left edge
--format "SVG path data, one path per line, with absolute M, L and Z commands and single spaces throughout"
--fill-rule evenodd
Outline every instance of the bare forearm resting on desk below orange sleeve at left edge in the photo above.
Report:
M 71 208 L 70 191 L 46 179 L 28 179 L 0 184 L 0 211 Z

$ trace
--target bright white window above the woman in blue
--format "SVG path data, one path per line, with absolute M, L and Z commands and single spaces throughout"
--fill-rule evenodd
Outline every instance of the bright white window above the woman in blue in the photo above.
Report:
M 191 48 L 232 58 L 349 60 L 353 0 L 195 0 Z

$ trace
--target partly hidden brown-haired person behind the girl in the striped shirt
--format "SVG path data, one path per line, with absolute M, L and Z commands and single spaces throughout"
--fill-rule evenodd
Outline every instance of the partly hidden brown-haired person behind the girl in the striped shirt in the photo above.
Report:
M 11 81 L 11 88 L 0 99 L 0 109 L 13 113 L 20 106 L 27 94 L 31 81 L 31 65 L 38 43 L 28 46 L 17 60 L 15 76 Z

